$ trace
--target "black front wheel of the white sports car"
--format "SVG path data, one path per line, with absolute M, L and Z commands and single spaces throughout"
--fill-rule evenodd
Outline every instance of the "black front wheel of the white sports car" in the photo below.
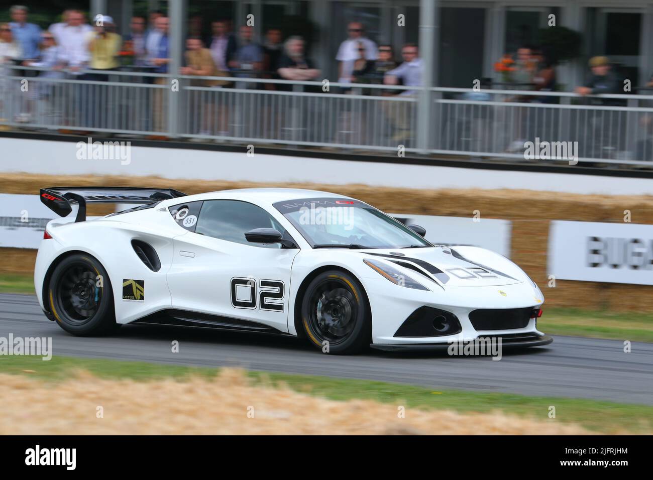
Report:
M 372 319 L 356 278 L 328 270 L 308 284 L 302 298 L 302 326 L 309 342 L 325 353 L 349 355 L 370 344 Z

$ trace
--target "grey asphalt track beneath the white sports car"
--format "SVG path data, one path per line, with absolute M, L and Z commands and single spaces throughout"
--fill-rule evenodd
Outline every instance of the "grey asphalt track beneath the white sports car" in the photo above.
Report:
M 195 328 L 125 326 L 103 338 L 78 338 L 41 313 L 32 295 L 0 295 L 0 336 L 52 337 L 54 355 L 236 366 L 295 374 L 374 379 L 433 389 L 512 392 L 653 405 L 653 344 L 554 336 L 545 347 L 504 351 L 503 359 L 445 353 L 325 355 L 294 338 Z M 180 342 L 172 353 L 172 340 Z M 633 339 L 628 339 L 633 340 Z M 2 357 L 0 357 L 2 361 Z

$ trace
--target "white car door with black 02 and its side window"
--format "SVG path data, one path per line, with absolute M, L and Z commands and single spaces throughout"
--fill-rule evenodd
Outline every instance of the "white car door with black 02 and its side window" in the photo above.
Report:
M 194 231 L 174 238 L 168 272 L 172 308 L 255 321 L 287 332 L 291 266 L 299 249 L 247 242 L 245 232 L 255 228 L 274 228 L 292 240 L 259 206 L 204 201 Z

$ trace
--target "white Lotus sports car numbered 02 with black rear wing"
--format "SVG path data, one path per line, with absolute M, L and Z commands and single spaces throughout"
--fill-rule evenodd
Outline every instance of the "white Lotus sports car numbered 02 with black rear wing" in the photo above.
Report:
M 65 218 L 44 232 L 37 296 L 71 334 L 187 325 L 298 336 L 340 354 L 552 342 L 537 330 L 544 297 L 516 264 L 434 246 L 422 227 L 360 200 L 282 188 L 54 187 L 40 197 Z M 138 206 L 87 218 L 91 202 Z

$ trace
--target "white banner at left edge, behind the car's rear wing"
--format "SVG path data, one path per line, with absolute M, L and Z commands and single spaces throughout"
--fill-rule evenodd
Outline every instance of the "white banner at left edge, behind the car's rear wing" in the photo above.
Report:
M 56 216 L 39 195 L 0 193 L 0 248 L 39 248 L 46 223 Z

